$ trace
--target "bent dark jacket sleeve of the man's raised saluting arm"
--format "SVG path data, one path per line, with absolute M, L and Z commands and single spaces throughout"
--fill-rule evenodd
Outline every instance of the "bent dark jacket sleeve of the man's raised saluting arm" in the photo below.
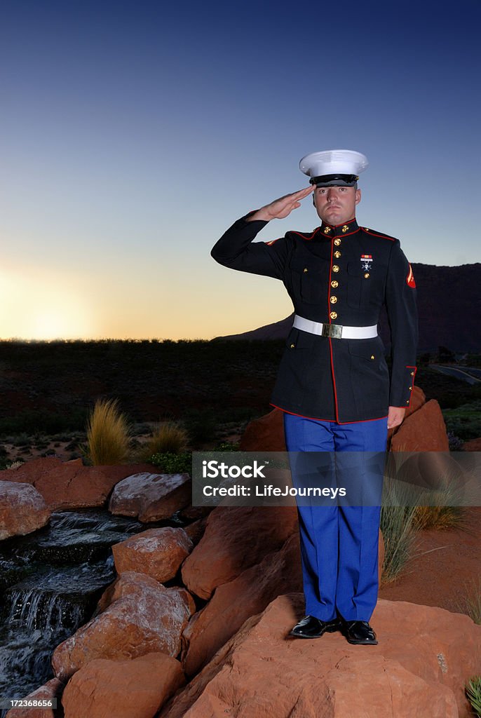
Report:
M 215 243 L 210 256 L 230 269 L 282 279 L 289 256 L 289 239 L 281 237 L 271 242 L 253 242 L 267 221 L 248 222 L 246 218 L 251 214 L 253 213 L 248 213 L 233 223 Z

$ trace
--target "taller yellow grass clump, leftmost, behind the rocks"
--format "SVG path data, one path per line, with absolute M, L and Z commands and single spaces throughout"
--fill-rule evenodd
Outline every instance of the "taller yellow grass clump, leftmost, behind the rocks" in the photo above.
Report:
M 130 432 L 117 399 L 100 399 L 88 419 L 87 442 L 79 447 L 94 465 L 121 464 L 129 456 Z

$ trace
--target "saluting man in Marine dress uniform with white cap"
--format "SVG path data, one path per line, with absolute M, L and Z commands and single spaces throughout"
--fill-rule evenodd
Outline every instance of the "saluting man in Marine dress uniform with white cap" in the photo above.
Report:
M 284 282 L 295 314 L 271 405 L 284 411 L 287 450 L 357 452 L 358 484 L 373 479 L 372 462 L 363 457 L 385 452 L 388 428 L 403 421 L 417 345 L 411 265 L 398 239 L 355 219 L 358 175 L 367 165 L 363 154 L 350 150 L 307 155 L 299 167 L 312 186 L 240 218 L 211 252 L 223 266 Z M 319 227 L 253 242 L 270 220 L 286 218 L 311 192 Z M 391 376 L 377 332 L 383 304 Z M 382 487 L 382 469 L 378 475 Z M 319 638 L 342 630 L 350 643 L 375 645 L 369 620 L 378 598 L 380 506 L 298 502 L 298 513 L 306 615 L 291 635 Z

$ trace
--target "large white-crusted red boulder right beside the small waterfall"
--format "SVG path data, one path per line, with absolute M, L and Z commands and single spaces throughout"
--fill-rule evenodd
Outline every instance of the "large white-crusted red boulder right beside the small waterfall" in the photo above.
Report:
M 177 656 L 191 614 L 185 589 L 165 588 L 144 574 L 130 572 L 123 594 L 117 584 L 106 610 L 60 643 L 52 656 L 62 681 L 93 658 L 137 658 L 146 653 Z M 137 582 L 135 588 L 133 582 Z

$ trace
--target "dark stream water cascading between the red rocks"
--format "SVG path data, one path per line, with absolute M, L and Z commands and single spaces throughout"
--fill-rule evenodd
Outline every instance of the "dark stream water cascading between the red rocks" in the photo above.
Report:
M 102 509 L 58 511 L 39 531 L 0 541 L 0 698 L 24 698 L 53 678 L 55 647 L 90 620 L 116 577 L 113 544 L 181 525 L 175 516 L 146 525 Z

